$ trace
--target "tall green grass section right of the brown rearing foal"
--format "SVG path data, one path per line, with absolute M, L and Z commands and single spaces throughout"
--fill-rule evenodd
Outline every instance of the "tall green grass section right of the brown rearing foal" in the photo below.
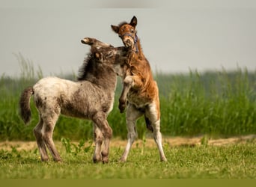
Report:
M 210 77 L 210 79 L 209 79 Z M 169 135 L 243 135 L 256 132 L 255 74 L 198 72 L 174 76 L 161 97 L 163 132 Z M 250 80 L 252 79 L 252 80 Z

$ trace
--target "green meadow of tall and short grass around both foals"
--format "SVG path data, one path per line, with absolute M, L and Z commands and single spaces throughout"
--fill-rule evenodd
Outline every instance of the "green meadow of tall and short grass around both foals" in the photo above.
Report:
M 32 129 L 38 114 L 31 99 L 32 117 L 25 126 L 19 117 L 19 96 L 24 88 L 43 77 L 40 67 L 17 55 L 21 73 L 0 78 L 0 141 L 35 141 Z M 76 73 L 58 75 L 76 80 Z M 168 162 L 159 162 L 156 146 L 132 147 L 126 163 L 118 162 L 124 145 L 111 146 L 109 164 L 94 164 L 92 124 L 61 116 L 54 140 L 63 162 L 40 162 L 36 148 L 10 150 L 0 147 L 1 178 L 256 178 L 255 138 L 225 146 L 209 145 L 215 138 L 256 134 L 256 71 L 241 69 L 188 74 L 155 73 L 161 103 L 161 132 L 168 137 L 201 137 L 200 145 L 171 146 L 164 142 Z M 125 114 L 118 110 L 121 79 L 115 105 L 109 114 L 113 138 L 127 139 Z M 138 139 L 151 138 L 144 119 L 137 123 Z M 76 143 L 71 143 L 76 142 Z M 85 145 L 86 143 L 86 145 Z

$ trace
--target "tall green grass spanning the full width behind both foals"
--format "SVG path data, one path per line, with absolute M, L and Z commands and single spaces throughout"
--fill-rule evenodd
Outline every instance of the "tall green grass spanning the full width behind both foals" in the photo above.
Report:
M 0 140 L 34 140 L 32 129 L 38 114 L 31 102 L 32 117 L 24 126 L 19 117 L 19 96 L 28 85 L 43 77 L 38 67 L 16 55 L 21 65 L 18 77 L 1 76 L 0 79 Z M 63 77 L 63 76 L 62 76 Z M 74 79 L 75 76 L 69 76 Z M 161 131 L 163 135 L 212 135 L 231 136 L 256 133 L 256 72 L 239 67 L 234 72 L 163 74 L 155 75 L 161 102 Z M 121 79 L 115 93 L 115 105 L 108 121 L 115 137 L 127 138 L 125 114 L 118 111 Z M 138 138 L 147 132 L 144 119 L 137 123 Z M 73 140 L 92 137 L 90 120 L 61 116 L 55 127 L 54 138 Z

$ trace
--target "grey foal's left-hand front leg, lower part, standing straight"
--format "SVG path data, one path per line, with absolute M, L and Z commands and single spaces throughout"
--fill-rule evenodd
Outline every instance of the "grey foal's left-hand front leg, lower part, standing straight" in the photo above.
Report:
M 95 143 L 95 150 L 94 150 L 94 163 L 101 161 L 101 145 L 103 144 L 103 133 L 100 131 L 99 127 L 94 123 L 94 143 Z

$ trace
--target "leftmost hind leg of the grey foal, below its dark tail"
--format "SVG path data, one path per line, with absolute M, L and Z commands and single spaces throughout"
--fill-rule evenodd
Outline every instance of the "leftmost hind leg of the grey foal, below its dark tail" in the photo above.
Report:
M 43 128 L 43 119 L 40 117 L 40 121 L 37 124 L 37 126 L 34 127 L 34 136 L 37 140 L 37 147 L 40 152 L 41 160 L 42 161 L 48 161 L 49 156 L 46 150 L 46 144 L 43 141 L 43 135 L 42 135 L 42 128 Z

